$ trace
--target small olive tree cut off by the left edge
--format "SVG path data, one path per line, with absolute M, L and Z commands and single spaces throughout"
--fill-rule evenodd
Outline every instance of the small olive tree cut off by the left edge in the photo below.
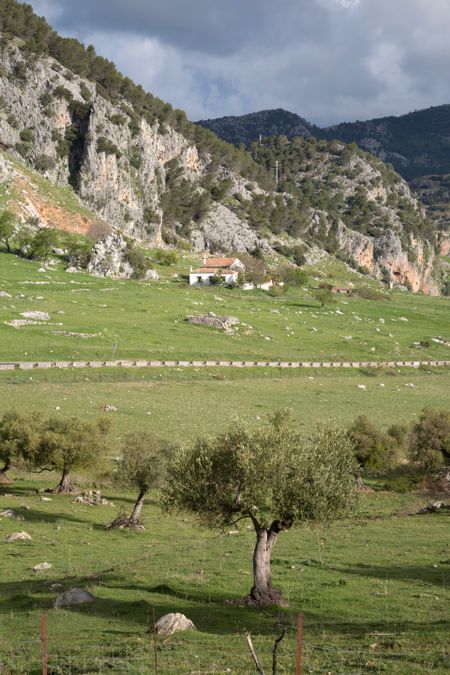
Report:
M 39 423 L 36 415 L 20 415 L 16 410 L 8 410 L 0 419 L 0 459 L 4 463 L 0 483 L 10 482 L 7 472 L 14 462 L 33 454 L 39 442 Z

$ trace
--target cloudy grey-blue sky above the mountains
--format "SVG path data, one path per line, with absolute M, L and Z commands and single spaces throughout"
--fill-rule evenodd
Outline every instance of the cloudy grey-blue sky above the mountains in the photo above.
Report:
M 196 121 L 320 126 L 450 102 L 449 0 L 28 0 Z

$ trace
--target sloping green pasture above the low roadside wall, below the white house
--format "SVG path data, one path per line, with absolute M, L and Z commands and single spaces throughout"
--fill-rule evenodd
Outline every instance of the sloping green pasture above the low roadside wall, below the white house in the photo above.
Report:
M 190 288 L 173 278 L 199 258 L 186 254 L 177 268 L 155 265 L 159 282 L 114 281 L 44 269 L 0 254 L 0 359 L 224 358 L 286 360 L 445 359 L 449 300 L 391 293 L 389 300 L 338 296 L 320 308 L 321 281 L 377 289 L 375 282 L 329 259 L 311 269 L 310 286 L 282 298 L 264 291 Z M 380 295 L 381 297 L 381 295 Z M 28 311 L 50 321 L 15 329 L 8 322 Z M 186 316 L 215 312 L 240 319 L 233 334 L 187 324 Z M 69 332 L 80 335 L 58 335 Z M 420 346 L 422 343 L 423 346 Z

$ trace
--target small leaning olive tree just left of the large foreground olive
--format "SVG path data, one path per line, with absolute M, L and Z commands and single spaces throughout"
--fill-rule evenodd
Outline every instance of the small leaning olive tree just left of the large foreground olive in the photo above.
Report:
M 129 434 L 122 448 L 123 459 L 119 464 L 116 482 L 121 487 L 138 490 L 138 497 L 131 515 L 119 515 L 109 526 L 143 530 L 140 521 L 144 499 L 149 490 L 159 487 L 166 466 L 173 453 L 172 446 L 152 434 Z

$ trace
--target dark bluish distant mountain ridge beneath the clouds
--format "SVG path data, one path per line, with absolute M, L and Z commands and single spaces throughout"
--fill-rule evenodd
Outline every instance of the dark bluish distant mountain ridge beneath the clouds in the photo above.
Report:
M 357 143 L 392 164 L 407 180 L 450 173 L 450 105 L 441 105 L 365 122 L 344 122 L 325 129 L 283 109 L 263 110 L 240 117 L 201 120 L 201 126 L 238 145 L 250 145 L 259 135 L 315 136 Z M 273 131 L 272 131 L 273 130 Z

